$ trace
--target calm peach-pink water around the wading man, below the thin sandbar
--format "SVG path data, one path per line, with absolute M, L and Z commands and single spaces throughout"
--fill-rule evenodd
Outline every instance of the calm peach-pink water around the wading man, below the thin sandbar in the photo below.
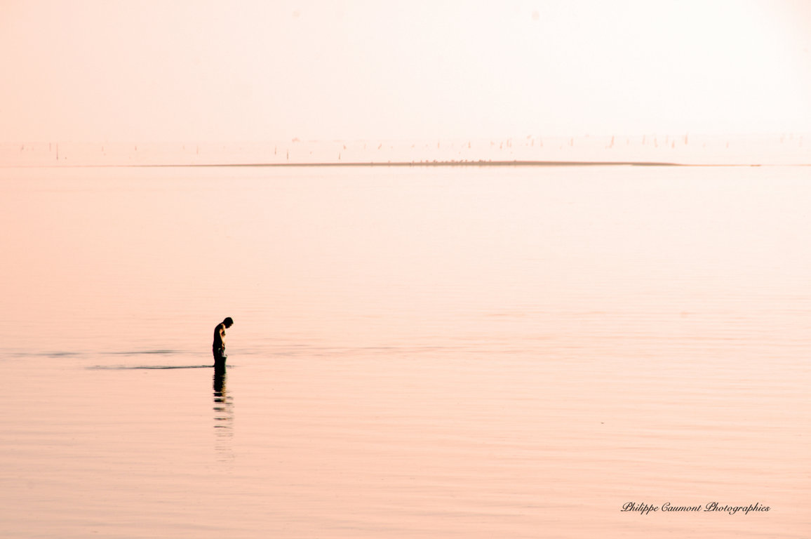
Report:
M 3 537 L 811 536 L 809 168 L 0 186 Z

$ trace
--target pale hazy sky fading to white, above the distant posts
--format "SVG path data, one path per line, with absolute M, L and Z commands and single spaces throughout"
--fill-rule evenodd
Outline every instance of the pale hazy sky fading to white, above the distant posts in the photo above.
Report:
M 0 140 L 811 132 L 805 0 L 0 0 Z

